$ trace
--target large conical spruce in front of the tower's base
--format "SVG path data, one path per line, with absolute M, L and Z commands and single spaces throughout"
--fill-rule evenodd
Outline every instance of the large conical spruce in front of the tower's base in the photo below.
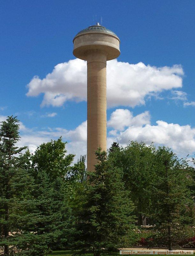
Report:
M 122 171 L 106 161 L 107 153 L 96 151 L 98 163 L 95 172 L 89 172 L 89 180 L 76 209 L 75 249 L 81 253 L 101 252 L 133 244 L 134 206 L 124 189 Z

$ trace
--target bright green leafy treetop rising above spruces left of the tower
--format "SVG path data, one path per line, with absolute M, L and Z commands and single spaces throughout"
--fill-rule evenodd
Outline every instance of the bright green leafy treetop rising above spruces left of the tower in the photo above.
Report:
M 70 172 L 70 164 L 74 155 L 66 155 L 66 142 L 62 137 L 58 140 L 41 144 L 32 157 L 32 163 L 35 170 L 44 171 L 52 181 L 56 178 L 64 178 Z

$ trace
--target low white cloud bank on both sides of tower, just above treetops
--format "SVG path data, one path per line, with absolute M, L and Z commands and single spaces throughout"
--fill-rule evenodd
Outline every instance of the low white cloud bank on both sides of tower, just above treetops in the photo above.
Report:
M 113 128 L 107 137 L 108 148 L 113 141 L 126 146 L 131 140 L 137 140 L 146 144 L 154 142 L 156 146 L 168 146 L 181 157 L 195 153 L 195 128 L 190 125 L 167 123 L 162 120 L 152 125 L 148 111 L 133 116 L 128 109 L 116 109 L 111 114 L 108 124 L 109 129 Z M 34 152 L 41 143 L 62 136 L 64 141 L 68 141 L 68 153 L 76 155 L 75 162 L 80 155 L 86 154 L 87 121 L 71 130 L 56 127 L 37 131 L 26 128 L 22 129 L 20 135 L 19 146 L 28 146 L 31 152 Z

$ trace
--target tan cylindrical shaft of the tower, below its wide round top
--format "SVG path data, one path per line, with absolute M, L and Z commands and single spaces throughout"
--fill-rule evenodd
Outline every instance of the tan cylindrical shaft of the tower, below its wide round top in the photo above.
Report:
M 87 55 L 87 170 L 94 171 L 95 151 L 106 147 L 106 53 Z

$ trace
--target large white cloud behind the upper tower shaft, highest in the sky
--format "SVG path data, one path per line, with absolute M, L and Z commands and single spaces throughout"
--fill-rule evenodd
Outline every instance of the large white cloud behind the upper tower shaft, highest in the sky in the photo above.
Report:
M 144 104 L 146 95 L 157 95 L 163 90 L 182 87 L 183 75 L 180 65 L 159 68 L 146 66 L 142 62 L 129 64 L 110 60 L 107 62 L 108 107 Z M 67 100 L 86 100 L 86 84 L 86 61 L 69 60 L 56 65 L 43 79 L 34 76 L 27 85 L 27 96 L 43 93 L 42 107 L 59 107 Z

